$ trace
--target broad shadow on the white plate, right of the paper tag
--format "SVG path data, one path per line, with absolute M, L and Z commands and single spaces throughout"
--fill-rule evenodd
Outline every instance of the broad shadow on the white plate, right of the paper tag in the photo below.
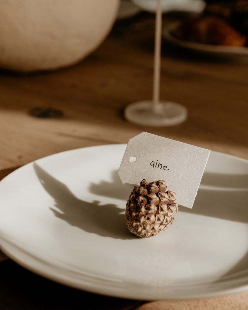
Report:
M 248 223 L 248 175 L 204 172 L 192 209 L 181 212 Z

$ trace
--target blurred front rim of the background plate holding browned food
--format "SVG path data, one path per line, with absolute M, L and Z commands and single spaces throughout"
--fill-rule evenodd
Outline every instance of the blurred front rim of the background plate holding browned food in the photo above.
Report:
M 210 45 L 196 42 L 184 41 L 176 38 L 172 35 L 172 31 L 176 29 L 178 23 L 171 24 L 162 31 L 163 38 L 178 46 L 188 50 L 196 51 L 202 54 L 209 54 L 213 56 L 224 56 L 224 57 L 247 57 L 247 47 L 232 47 L 232 46 L 221 46 L 221 45 Z

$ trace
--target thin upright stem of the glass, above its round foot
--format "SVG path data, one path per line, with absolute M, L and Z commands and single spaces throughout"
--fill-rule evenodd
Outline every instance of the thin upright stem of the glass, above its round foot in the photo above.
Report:
M 157 0 L 155 42 L 154 42 L 154 71 L 153 71 L 153 112 L 156 112 L 160 95 L 160 67 L 161 67 L 161 38 L 162 38 L 162 7 L 161 0 Z

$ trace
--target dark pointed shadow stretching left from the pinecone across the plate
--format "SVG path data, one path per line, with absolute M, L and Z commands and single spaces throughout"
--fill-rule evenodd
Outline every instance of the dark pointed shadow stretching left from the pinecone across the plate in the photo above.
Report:
M 50 209 L 56 217 L 102 237 L 123 240 L 134 238 L 125 225 L 126 209 L 113 204 L 100 205 L 100 201 L 80 200 L 65 184 L 48 174 L 37 163 L 33 167 L 43 188 L 55 201 L 54 207 Z

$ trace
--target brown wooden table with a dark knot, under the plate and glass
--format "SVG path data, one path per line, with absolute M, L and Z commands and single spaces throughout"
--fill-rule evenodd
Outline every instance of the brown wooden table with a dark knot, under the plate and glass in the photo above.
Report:
M 164 23 L 174 20 L 164 16 Z M 154 16 L 115 24 L 81 63 L 51 73 L 0 72 L 0 178 L 49 154 L 126 143 L 142 131 L 248 159 L 248 65 L 162 44 L 161 97 L 182 103 L 188 119 L 164 128 L 123 117 L 131 102 L 152 97 Z M 55 111 L 54 111 L 55 109 Z M 43 117 L 38 117 L 43 116 Z M 248 309 L 248 292 L 188 301 L 144 302 L 62 286 L 0 252 L 0 309 Z

